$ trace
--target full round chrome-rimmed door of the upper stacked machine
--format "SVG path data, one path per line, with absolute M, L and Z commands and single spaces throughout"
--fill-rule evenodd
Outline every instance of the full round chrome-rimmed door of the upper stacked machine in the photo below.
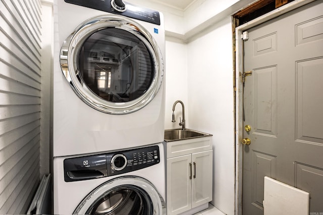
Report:
M 64 42 L 60 59 L 75 93 L 90 107 L 110 114 L 143 108 L 164 76 L 155 40 L 141 25 L 121 16 L 82 23 Z

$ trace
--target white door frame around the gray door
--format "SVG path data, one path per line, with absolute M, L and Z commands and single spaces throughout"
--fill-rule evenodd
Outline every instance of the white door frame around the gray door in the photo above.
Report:
M 251 20 L 235 29 L 235 214 L 242 214 L 242 172 L 243 172 L 243 86 L 240 73 L 243 73 L 243 39 L 242 32 L 256 25 L 274 19 L 315 0 L 295 0 L 270 13 Z

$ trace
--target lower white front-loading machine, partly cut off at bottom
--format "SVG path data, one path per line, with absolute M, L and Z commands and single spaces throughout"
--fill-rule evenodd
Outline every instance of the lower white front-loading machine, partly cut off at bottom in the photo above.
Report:
M 54 214 L 166 214 L 163 144 L 54 162 Z

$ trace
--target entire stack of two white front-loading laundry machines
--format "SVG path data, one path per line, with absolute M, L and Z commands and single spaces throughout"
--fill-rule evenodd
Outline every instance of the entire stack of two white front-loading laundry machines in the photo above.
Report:
M 54 3 L 55 214 L 165 214 L 165 29 L 122 0 Z

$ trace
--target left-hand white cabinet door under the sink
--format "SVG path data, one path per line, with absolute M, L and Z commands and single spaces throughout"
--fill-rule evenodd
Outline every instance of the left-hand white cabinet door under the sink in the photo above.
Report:
M 167 159 L 167 214 L 191 209 L 191 155 Z

